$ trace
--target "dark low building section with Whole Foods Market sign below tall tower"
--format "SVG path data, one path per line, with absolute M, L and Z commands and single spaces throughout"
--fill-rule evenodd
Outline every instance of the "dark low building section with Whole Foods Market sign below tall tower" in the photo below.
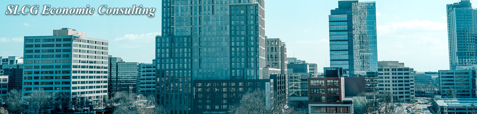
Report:
M 194 80 L 193 113 L 227 114 L 247 92 L 261 89 L 265 96 L 271 96 L 274 83 L 274 79 Z

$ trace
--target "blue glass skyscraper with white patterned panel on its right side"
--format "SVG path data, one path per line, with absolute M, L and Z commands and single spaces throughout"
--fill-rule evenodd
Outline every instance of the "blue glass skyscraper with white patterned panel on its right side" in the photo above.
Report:
M 375 2 L 338 1 L 331 10 L 330 66 L 343 68 L 344 77 L 366 78 L 366 91 L 377 91 Z

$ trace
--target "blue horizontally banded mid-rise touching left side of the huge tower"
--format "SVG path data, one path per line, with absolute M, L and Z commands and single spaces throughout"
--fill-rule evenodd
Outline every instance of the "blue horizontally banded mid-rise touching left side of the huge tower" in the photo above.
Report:
M 156 60 L 153 63 L 139 64 L 139 82 L 137 93 L 145 96 L 156 94 Z

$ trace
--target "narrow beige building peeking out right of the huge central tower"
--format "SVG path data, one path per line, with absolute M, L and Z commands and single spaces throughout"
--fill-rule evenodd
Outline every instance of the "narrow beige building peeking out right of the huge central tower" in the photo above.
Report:
M 265 39 L 265 66 L 280 69 L 280 74 L 287 74 L 287 47 L 280 38 Z

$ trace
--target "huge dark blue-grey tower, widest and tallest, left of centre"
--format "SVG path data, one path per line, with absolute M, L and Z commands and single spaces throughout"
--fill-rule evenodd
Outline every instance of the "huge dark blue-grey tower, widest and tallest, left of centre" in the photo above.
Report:
M 157 100 L 191 114 L 192 80 L 262 79 L 264 0 L 162 0 L 156 37 Z

